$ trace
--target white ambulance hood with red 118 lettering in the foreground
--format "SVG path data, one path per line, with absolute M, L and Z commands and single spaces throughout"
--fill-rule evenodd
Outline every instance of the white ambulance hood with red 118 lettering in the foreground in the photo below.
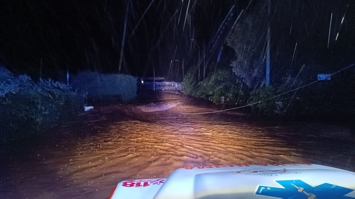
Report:
M 355 198 L 355 173 L 316 164 L 186 167 L 122 181 L 111 198 Z

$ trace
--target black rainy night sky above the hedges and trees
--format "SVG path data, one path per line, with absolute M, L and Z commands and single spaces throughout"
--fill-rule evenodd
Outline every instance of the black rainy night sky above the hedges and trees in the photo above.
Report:
M 252 1 L 250 7 L 257 2 Z M 271 2 L 272 25 L 278 27 L 273 29 L 273 46 L 290 46 L 285 52 L 291 54 L 288 59 L 292 58 L 294 43 L 299 42 L 298 57 L 302 57 L 303 49 L 313 46 L 319 51 L 314 59 L 337 53 L 333 62 L 351 61 L 355 51 L 353 1 Z M 67 68 L 70 73 L 118 73 L 121 67 L 121 73 L 134 76 L 152 76 L 155 69 L 156 76 L 173 80 L 181 74 L 181 62 L 174 60 L 184 61 L 187 70 L 198 61 L 199 51 L 200 55 L 204 51 L 208 62 L 216 62 L 224 47 L 222 59 L 225 63 L 233 59 L 226 37 L 249 3 L 4 0 L 0 8 L 0 63 L 35 78 L 40 74 L 58 78 Z M 333 28 L 329 33 L 330 15 Z M 284 23 L 281 26 L 279 22 Z M 274 49 L 272 60 L 285 56 L 279 48 Z

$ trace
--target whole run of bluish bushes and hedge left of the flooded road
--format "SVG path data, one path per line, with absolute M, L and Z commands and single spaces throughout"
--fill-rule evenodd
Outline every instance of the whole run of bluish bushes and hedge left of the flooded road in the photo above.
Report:
M 70 86 L 51 79 L 35 82 L 0 67 L 0 144 L 74 119 L 83 112 L 84 92 L 93 98 L 119 96 L 124 102 L 137 92 L 136 78 L 128 75 L 83 72 L 72 82 Z

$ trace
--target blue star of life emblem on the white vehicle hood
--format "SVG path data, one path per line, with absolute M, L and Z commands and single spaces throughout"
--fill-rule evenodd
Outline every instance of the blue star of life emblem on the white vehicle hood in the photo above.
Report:
M 354 191 L 349 188 L 329 183 L 323 183 L 313 187 L 303 182 L 302 180 L 277 180 L 276 182 L 282 185 L 284 188 L 259 185 L 255 194 L 284 199 L 349 199 L 352 197 L 347 197 L 344 195 Z

